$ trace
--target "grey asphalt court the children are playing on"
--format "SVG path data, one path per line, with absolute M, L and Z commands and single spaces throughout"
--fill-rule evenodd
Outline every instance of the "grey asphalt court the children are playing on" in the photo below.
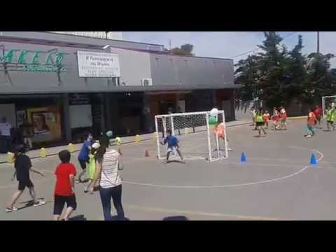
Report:
M 180 137 L 181 151 L 190 158 L 186 164 L 165 164 L 156 158 L 155 140 L 120 146 L 123 153 L 123 204 L 130 220 L 162 220 L 184 216 L 188 220 L 333 220 L 336 216 L 336 132 L 317 130 L 304 138 L 304 119 L 288 121 L 288 130 L 268 130 L 255 137 L 253 127 L 228 128 L 229 158 L 205 160 L 204 132 Z M 324 125 L 323 125 L 324 126 Z M 145 157 L 148 151 L 150 157 Z M 246 163 L 240 162 L 241 153 Z M 309 165 L 311 154 L 317 166 Z M 79 168 L 73 153 L 72 162 Z M 205 155 L 205 156 L 204 156 Z M 179 160 L 179 158 L 176 158 Z M 51 220 L 53 172 L 57 156 L 33 160 L 42 178 L 32 175 L 38 197 L 48 204 L 27 207 L 15 213 L 0 211 L 1 220 Z M 10 181 L 13 165 L 0 167 L 0 206 L 6 207 L 17 188 Z M 76 185 L 78 209 L 73 216 L 101 220 L 99 193 L 83 193 Z M 19 202 L 29 200 L 27 192 Z M 18 204 L 20 207 L 22 204 Z M 24 205 L 24 204 L 23 204 Z M 114 211 L 114 209 L 113 209 Z

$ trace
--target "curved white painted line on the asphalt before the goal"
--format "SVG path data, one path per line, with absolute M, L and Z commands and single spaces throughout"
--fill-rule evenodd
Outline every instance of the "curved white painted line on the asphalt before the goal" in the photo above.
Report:
M 309 149 L 309 148 L 303 148 L 303 147 L 297 147 L 297 146 L 287 146 L 288 148 L 298 148 L 298 149 L 302 149 L 302 150 L 308 150 L 311 152 L 316 152 L 320 155 L 320 158 L 318 158 L 318 162 L 321 161 L 324 158 L 323 153 L 321 153 L 320 151 L 316 151 L 314 149 Z M 239 184 L 231 184 L 231 185 L 218 185 L 218 186 L 167 186 L 167 185 L 155 185 L 155 184 L 151 184 L 151 183 L 137 183 L 137 182 L 132 182 L 132 181 L 123 181 L 123 183 L 126 184 L 130 184 L 130 185 L 136 185 L 136 186 L 148 186 L 148 187 L 156 187 L 156 188 L 176 188 L 176 189 L 207 189 L 207 188 L 232 188 L 232 187 L 238 187 L 238 186 L 253 186 L 253 185 L 258 185 L 258 184 L 262 184 L 262 183 L 270 183 L 270 182 L 274 182 L 274 181 L 280 181 L 283 179 L 289 179 L 292 176 L 295 176 L 297 174 L 300 174 L 302 172 L 304 172 L 306 169 L 309 168 L 309 165 L 303 167 L 302 169 L 300 169 L 297 172 L 294 172 L 293 174 L 289 174 L 287 176 L 282 176 L 280 178 L 276 178 L 276 179 L 268 179 L 265 181 L 255 181 L 255 182 L 251 182 L 251 183 L 239 183 Z

